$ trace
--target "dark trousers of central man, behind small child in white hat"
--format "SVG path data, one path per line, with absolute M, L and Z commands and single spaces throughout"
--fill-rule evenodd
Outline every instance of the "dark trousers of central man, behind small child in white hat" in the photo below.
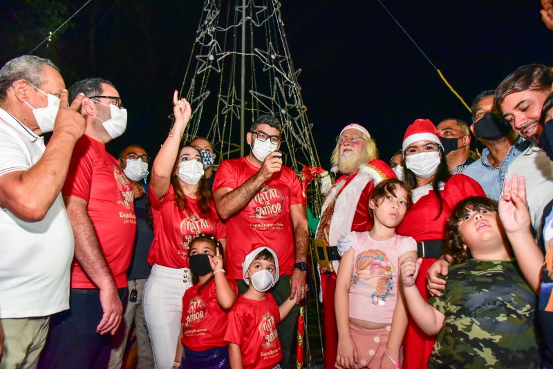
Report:
M 242 279 L 236 279 L 236 285 L 238 286 L 238 294 L 243 294 L 247 291 L 247 285 Z M 280 305 L 290 297 L 290 275 L 283 274 L 277 285 L 275 285 L 271 294 L 274 297 L 274 300 L 277 301 L 277 305 Z M 296 368 L 295 363 L 292 365 L 290 360 L 292 359 L 292 346 L 294 345 L 296 338 L 296 324 L 298 321 L 299 315 L 299 305 L 295 305 L 290 314 L 288 314 L 283 321 L 277 324 L 277 332 L 279 333 L 279 340 L 281 341 L 282 348 L 282 361 L 281 367 L 286 368 Z

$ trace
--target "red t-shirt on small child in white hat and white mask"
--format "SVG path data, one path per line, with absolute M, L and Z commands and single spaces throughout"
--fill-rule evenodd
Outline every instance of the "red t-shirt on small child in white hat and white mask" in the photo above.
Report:
M 240 346 L 244 369 L 274 368 L 281 362 L 279 321 L 279 306 L 270 294 L 263 301 L 238 297 L 229 313 L 225 341 Z

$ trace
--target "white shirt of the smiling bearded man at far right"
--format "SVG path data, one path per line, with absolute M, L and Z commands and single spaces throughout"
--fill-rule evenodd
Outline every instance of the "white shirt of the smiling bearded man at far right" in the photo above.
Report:
M 532 144 L 509 165 L 507 178 L 510 179 L 513 174 L 526 180 L 526 201 L 532 227 L 539 230 L 543 209 L 553 198 L 553 162 L 547 158 L 545 151 Z

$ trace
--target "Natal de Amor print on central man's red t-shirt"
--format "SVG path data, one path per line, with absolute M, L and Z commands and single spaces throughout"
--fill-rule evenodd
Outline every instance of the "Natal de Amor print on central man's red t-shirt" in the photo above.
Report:
M 255 221 L 252 226 L 259 231 L 267 229 L 282 229 L 281 223 L 263 223 L 265 220 L 272 220 L 282 213 L 284 205 L 284 196 L 278 189 L 263 188 L 256 193 L 250 201 L 252 213 L 250 218 Z M 279 228 L 280 227 L 280 228 Z

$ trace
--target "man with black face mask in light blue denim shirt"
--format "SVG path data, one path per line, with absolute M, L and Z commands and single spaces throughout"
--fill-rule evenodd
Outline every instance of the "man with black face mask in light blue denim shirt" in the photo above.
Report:
M 509 123 L 494 113 L 494 90 L 483 91 L 472 103 L 471 131 L 485 145 L 482 158 L 463 174 L 476 180 L 486 196 L 498 200 L 509 164 L 525 151 L 529 141 L 519 137 Z

